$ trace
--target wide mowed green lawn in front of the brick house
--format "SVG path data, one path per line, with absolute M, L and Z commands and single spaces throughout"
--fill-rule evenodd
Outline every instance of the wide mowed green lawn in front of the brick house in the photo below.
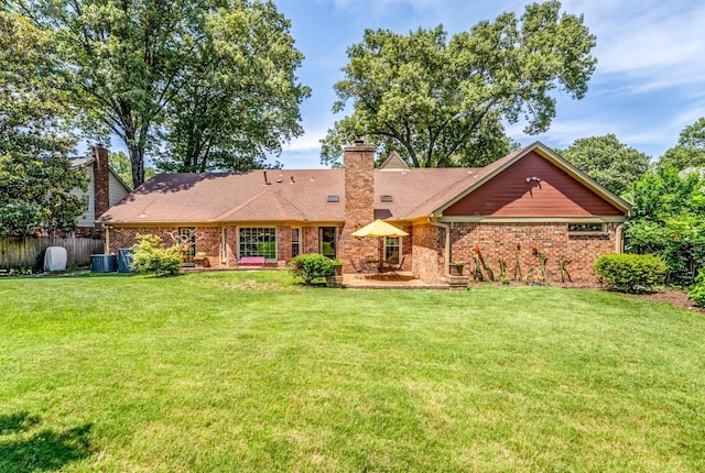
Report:
M 0 471 L 705 471 L 705 317 L 616 294 L 0 279 Z

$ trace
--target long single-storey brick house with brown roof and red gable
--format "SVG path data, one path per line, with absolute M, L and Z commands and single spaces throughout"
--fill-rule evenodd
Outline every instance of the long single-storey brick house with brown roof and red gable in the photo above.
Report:
M 352 261 L 378 254 L 378 241 L 350 233 L 376 218 L 409 237 L 386 239 L 387 258 L 426 282 L 442 282 L 455 260 L 471 262 L 474 249 L 512 275 L 546 255 L 551 279 L 558 260 L 571 260 L 574 280 L 594 278 L 600 254 L 620 252 L 629 205 L 541 143 L 482 168 L 409 168 L 392 153 L 375 168 L 375 148 L 361 141 L 345 148 L 344 169 L 162 174 L 102 215 L 110 252 L 137 233 L 195 229 L 191 254 L 207 253 L 214 266 L 236 267 L 242 256 L 284 266 L 301 253 Z

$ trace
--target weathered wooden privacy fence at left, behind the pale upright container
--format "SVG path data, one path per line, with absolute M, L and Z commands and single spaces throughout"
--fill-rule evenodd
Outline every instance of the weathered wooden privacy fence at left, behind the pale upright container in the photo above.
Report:
M 88 265 L 90 255 L 102 253 L 105 241 L 88 238 L 8 237 L 0 238 L 0 268 L 42 268 L 48 246 L 66 249 L 66 264 Z

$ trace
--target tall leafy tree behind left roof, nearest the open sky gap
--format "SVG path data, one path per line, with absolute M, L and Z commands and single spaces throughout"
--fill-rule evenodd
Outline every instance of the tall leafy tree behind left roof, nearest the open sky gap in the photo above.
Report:
M 172 101 L 162 134 L 163 170 L 248 170 L 267 167 L 282 140 L 299 136 L 299 106 L 310 89 L 296 84 L 303 55 L 293 47 L 290 22 L 272 3 L 250 11 L 220 11 L 206 22 L 194 55 L 200 80 Z

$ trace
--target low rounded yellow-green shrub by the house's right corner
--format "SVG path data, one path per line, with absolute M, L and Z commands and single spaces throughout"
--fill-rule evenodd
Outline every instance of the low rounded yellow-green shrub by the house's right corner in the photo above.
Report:
M 651 254 L 606 254 L 593 270 L 620 293 L 642 293 L 663 283 L 665 263 Z

